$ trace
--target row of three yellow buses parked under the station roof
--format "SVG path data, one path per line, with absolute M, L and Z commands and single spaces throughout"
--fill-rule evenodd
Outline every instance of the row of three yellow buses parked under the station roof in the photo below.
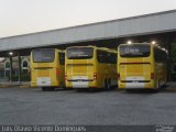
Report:
M 121 44 L 117 51 L 72 46 L 31 53 L 31 86 L 43 90 L 158 89 L 167 80 L 167 52 L 150 43 Z

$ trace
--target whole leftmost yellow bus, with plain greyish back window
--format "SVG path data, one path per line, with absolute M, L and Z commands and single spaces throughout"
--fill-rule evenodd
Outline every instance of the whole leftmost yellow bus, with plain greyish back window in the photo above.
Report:
M 31 52 L 31 86 L 43 90 L 64 87 L 65 52 L 56 48 L 36 48 Z

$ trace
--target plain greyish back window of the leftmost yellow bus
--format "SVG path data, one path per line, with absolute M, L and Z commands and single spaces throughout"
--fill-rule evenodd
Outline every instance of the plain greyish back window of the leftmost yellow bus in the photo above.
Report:
M 32 52 L 34 63 L 52 63 L 55 58 L 55 50 L 43 48 Z

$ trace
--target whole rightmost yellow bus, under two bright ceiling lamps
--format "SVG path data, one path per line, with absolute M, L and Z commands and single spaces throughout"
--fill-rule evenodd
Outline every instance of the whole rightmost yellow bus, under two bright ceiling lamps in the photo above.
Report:
M 167 80 L 167 51 L 150 43 L 118 47 L 118 85 L 122 89 L 158 89 Z

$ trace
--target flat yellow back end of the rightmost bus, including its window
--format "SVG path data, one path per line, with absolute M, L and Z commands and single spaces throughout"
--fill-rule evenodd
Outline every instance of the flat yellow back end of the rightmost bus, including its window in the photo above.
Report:
M 153 62 L 150 45 L 121 45 L 119 47 L 119 88 L 152 88 Z

